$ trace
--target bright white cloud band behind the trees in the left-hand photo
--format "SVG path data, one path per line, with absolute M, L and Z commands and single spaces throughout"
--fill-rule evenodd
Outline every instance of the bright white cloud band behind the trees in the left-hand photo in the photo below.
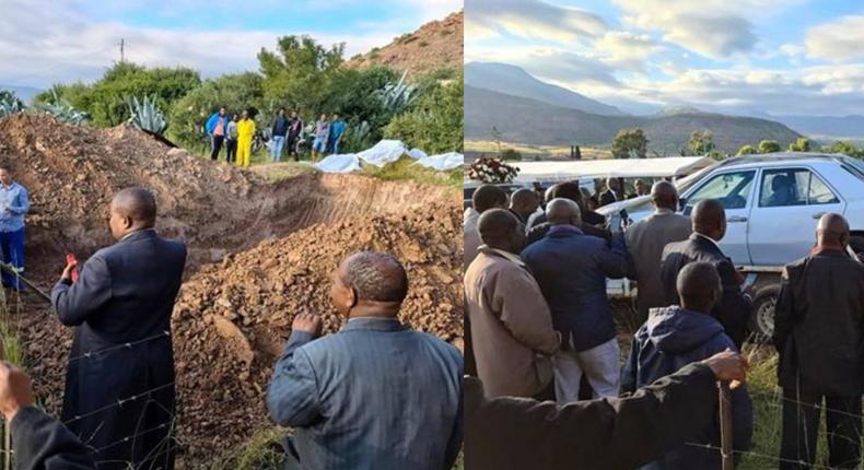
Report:
M 177 1 L 183 8 L 196 4 L 191 0 Z M 218 4 L 223 0 L 215 1 Z M 419 0 L 400 1 L 421 3 Z M 430 7 L 423 14 L 443 17 L 439 9 L 452 12 L 455 8 L 451 8 L 456 4 L 446 0 L 439 7 Z M 326 46 L 346 43 L 346 56 L 351 57 L 388 44 L 406 32 L 404 24 L 400 26 L 397 22 L 384 26 L 346 27 L 346 34 L 241 28 L 162 30 L 94 22 L 74 0 L 56 1 L 50 8 L 40 9 L 27 5 L 24 0 L 0 0 L 0 11 L 3 12 L 0 14 L 0 82 L 42 87 L 57 82 L 97 79 L 105 68 L 119 59 L 120 38 L 127 44 L 127 60 L 147 66 L 191 67 L 208 78 L 257 70 L 257 52 L 262 47 L 276 48 L 277 38 L 285 34 L 308 34 Z

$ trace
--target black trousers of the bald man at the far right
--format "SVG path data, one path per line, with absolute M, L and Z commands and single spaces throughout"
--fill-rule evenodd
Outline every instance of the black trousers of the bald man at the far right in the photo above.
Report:
M 783 389 L 783 439 L 780 468 L 806 469 L 816 461 L 816 442 L 822 399 L 828 432 L 828 466 L 857 468 L 861 460 L 861 396 L 827 397 L 821 393 Z M 801 461 L 793 463 L 789 460 Z

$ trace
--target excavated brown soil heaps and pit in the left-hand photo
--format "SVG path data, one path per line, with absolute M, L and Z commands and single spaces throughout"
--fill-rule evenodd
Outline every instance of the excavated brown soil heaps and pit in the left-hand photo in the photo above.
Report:
M 31 193 L 27 270 L 48 290 L 63 255 L 84 260 L 112 243 L 107 204 L 126 186 L 150 188 L 157 230 L 189 247 L 173 321 L 179 437 L 207 461 L 267 425 L 264 389 L 293 316 L 325 316 L 341 257 L 396 254 L 411 290 L 404 320 L 462 341 L 462 219 L 449 188 L 306 173 L 268 183 L 254 173 L 170 150 L 126 127 L 93 129 L 46 116 L 0 120 L 0 158 Z M 13 316 L 36 392 L 57 411 L 71 332 L 34 294 Z

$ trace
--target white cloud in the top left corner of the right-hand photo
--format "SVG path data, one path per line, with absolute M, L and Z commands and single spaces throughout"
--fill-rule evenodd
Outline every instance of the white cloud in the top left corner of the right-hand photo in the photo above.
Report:
M 491 32 L 506 32 L 525 38 L 571 43 L 600 36 L 607 30 L 595 13 L 539 0 L 471 0 L 465 13 L 471 39 L 488 37 Z

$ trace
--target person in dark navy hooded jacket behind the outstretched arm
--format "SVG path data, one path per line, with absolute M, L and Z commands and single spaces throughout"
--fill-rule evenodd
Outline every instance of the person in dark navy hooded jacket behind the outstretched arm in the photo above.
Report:
M 699 261 L 685 266 L 678 274 L 677 291 L 680 306 L 653 308 L 647 321 L 633 337 L 630 359 L 621 372 L 623 391 L 634 392 L 688 364 L 704 361 L 723 351 L 738 352 L 735 343 L 723 331 L 723 326 L 711 317 L 711 309 L 723 293 L 714 267 Z M 748 450 L 754 416 L 746 387 L 736 387 L 733 391 L 732 412 L 733 449 Z M 716 415 L 705 420 L 702 430 L 689 440 L 720 447 L 719 422 Z M 720 470 L 721 457 L 715 450 L 679 445 L 661 457 L 656 468 Z

